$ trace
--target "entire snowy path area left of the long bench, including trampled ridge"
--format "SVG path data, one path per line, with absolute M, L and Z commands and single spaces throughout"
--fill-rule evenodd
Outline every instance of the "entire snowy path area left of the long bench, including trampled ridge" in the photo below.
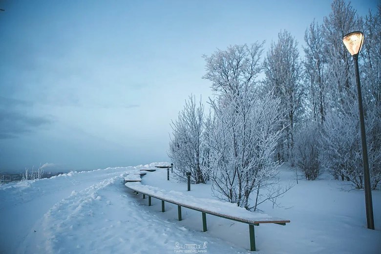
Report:
M 0 253 L 173 253 L 176 242 L 206 243 L 209 253 L 247 253 L 142 206 L 122 184 L 136 168 L 74 172 L 0 189 Z

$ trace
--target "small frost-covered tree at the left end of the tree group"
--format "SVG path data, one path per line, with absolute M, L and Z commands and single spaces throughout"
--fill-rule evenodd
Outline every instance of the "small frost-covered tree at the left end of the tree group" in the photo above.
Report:
M 173 177 L 186 182 L 186 172 L 191 172 L 191 183 L 206 183 L 209 148 L 204 141 L 204 106 L 197 106 L 195 97 L 190 96 L 179 112 L 177 120 L 172 121 L 168 156 L 174 163 Z

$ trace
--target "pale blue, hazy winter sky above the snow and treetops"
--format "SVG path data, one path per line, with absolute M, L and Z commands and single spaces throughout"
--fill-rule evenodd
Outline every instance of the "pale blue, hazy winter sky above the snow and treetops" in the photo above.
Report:
M 379 0 L 351 1 L 358 14 Z M 206 102 L 205 60 L 285 29 L 302 49 L 331 0 L 0 0 L 0 172 L 169 161 L 171 120 Z M 350 32 L 350 31 L 348 31 Z

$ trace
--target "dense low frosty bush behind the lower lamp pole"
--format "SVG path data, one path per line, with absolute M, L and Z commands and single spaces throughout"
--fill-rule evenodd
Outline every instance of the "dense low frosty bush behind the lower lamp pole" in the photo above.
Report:
M 381 181 L 380 154 L 380 113 L 381 110 L 368 112 L 365 120 L 368 142 L 368 159 L 372 189 Z M 369 140 L 369 139 L 368 139 Z M 363 169 L 360 142 L 359 112 L 357 107 L 343 114 L 330 112 L 323 125 L 322 164 L 330 169 L 336 179 L 352 182 L 356 189 L 363 188 Z

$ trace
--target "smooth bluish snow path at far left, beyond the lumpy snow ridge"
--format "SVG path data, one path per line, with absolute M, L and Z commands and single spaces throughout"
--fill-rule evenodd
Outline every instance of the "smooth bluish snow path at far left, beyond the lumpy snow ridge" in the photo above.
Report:
M 42 232 L 44 214 L 72 191 L 84 190 L 131 169 L 134 168 L 71 172 L 51 179 L 3 186 L 4 189 L 0 189 L 0 225 L 7 229 L 7 233 L 1 235 L 1 249 L 15 253 L 19 246 L 23 246 L 21 243 L 38 236 Z

